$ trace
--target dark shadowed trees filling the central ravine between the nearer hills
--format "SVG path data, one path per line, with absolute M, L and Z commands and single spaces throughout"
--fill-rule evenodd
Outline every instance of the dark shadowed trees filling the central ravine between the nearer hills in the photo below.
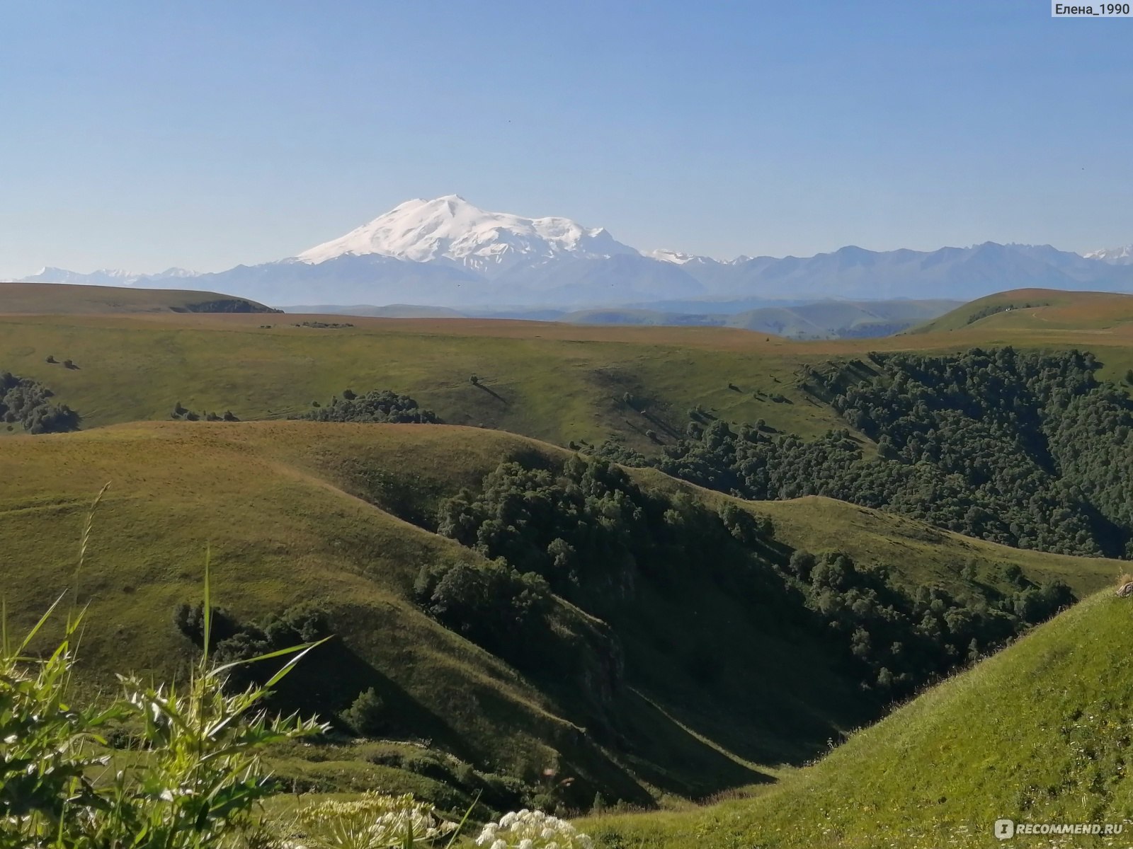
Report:
M 886 568 L 859 566 L 842 554 L 792 551 L 775 539 L 770 520 L 733 501 L 712 509 L 688 494 L 646 492 L 608 461 L 579 455 L 561 469 L 501 464 L 479 492 L 442 503 L 437 528 L 491 559 L 424 568 L 418 603 L 521 668 L 545 661 L 557 638 L 547 617 L 551 593 L 620 634 L 641 626 L 645 597 L 691 601 L 685 578 L 695 576 L 699 592 L 705 582 L 715 584 L 746 606 L 743 627 L 802 629 L 887 701 L 1074 600 L 1065 584 L 1038 586 L 1017 569 L 998 584 L 971 580 L 963 595 L 910 590 Z M 682 624 L 664 627 L 679 632 Z M 693 652 L 687 671 L 710 679 L 721 663 L 726 660 L 710 650 Z

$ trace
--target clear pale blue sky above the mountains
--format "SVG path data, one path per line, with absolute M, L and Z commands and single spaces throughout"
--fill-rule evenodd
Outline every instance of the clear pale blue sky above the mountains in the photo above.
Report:
M 722 257 L 1130 243 L 1131 45 L 1048 0 L 12 0 L 0 276 L 265 261 L 450 192 Z

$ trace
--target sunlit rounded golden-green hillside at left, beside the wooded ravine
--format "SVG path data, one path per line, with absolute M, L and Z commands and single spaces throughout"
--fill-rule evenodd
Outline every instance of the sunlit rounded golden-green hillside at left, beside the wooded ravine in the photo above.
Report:
M 249 441 L 275 441 L 275 434 L 240 427 Z M 181 601 L 199 599 L 210 544 L 214 592 L 237 615 L 325 603 L 352 624 L 355 651 L 397 661 L 394 688 L 416 704 L 419 736 L 450 746 L 459 738 L 478 760 L 509 749 L 512 765 L 550 758 L 535 738 L 566 723 L 546 700 L 406 601 L 419 565 L 462 554 L 459 547 L 233 437 L 231 429 L 160 424 L 10 440 L 0 460 L 9 610 L 26 623 L 69 583 L 87 503 L 111 480 L 79 577 L 80 597 L 92 601 L 88 680 L 123 667 L 169 674 L 185 661 L 188 645 L 171 616 Z M 506 443 L 500 438 L 493 461 Z M 467 447 L 450 439 L 449 469 L 458 456 L 476 462 Z M 441 454 L 432 456 L 441 462 Z M 459 707 L 477 703 L 480 710 Z

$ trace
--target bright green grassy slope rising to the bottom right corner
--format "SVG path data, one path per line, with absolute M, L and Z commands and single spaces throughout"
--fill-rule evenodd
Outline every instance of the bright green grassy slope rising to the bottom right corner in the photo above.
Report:
M 674 849 L 994 846 L 999 817 L 1124 821 L 1127 832 L 1131 617 L 1128 600 L 1100 593 L 758 798 L 587 827 L 610 846 Z

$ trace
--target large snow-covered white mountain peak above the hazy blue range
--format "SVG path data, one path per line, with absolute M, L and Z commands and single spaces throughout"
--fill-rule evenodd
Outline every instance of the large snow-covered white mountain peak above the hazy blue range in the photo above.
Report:
M 448 260 L 484 273 L 564 256 L 638 255 L 602 228 L 591 230 L 570 218 L 525 218 L 487 212 L 459 195 L 445 195 L 399 204 L 339 239 L 305 250 L 296 259 L 318 264 L 369 254 L 414 263 Z

